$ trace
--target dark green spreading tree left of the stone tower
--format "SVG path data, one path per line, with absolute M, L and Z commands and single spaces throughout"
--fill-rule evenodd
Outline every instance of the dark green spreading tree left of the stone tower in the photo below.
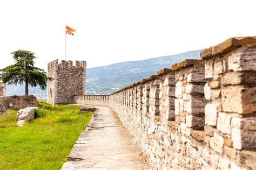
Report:
M 25 95 L 28 95 L 28 87 L 36 87 L 37 85 L 45 90 L 47 81 L 53 80 L 48 77 L 46 72 L 35 67 L 35 59 L 37 58 L 34 53 L 25 50 L 17 50 L 11 53 L 15 64 L 0 69 L 0 79 L 4 83 L 9 84 L 25 84 Z

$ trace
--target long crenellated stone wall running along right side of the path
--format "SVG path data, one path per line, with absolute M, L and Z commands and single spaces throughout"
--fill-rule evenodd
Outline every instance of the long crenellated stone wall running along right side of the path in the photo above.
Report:
M 75 103 L 111 107 L 152 169 L 255 169 L 256 37 L 228 39 L 201 58 Z

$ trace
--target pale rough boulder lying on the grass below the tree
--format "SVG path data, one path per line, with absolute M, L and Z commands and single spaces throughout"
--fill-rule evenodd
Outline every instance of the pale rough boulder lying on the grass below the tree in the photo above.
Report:
M 27 107 L 25 109 L 20 109 L 17 112 L 17 126 L 21 127 L 25 122 L 30 122 L 35 117 L 35 110 L 39 109 L 38 107 Z

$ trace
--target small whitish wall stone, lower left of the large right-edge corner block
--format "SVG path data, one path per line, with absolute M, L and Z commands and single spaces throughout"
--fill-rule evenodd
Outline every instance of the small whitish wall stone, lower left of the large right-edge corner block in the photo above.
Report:
M 217 133 L 213 133 L 213 137 L 210 138 L 210 146 L 214 151 L 223 154 L 224 150 L 224 138 Z

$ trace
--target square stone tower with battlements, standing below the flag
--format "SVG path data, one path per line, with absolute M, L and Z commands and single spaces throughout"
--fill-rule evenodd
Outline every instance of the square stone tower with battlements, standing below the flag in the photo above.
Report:
M 86 94 L 86 61 L 58 60 L 48 63 L 48 76 L 53 81 L 48 81 L 48 103 L 70 104 L 74 96 Z

